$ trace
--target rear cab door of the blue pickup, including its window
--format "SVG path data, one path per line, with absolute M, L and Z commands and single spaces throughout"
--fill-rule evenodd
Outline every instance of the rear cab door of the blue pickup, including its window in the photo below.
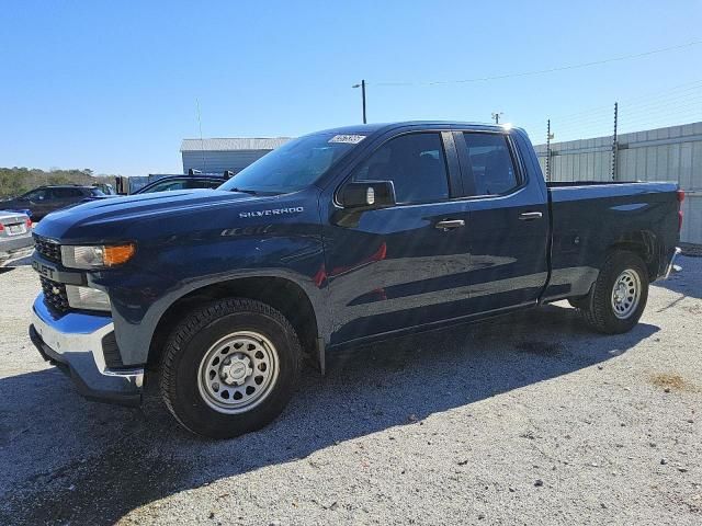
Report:
M 509 134 L 461 130 L 454 140 L 469 209 L 471 313 L 533 304 L 548 275 L 546 196 Z

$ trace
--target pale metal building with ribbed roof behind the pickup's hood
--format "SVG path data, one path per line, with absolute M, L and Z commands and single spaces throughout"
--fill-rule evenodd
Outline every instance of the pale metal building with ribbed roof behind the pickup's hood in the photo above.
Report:
M 183 173 L 190 169 L 202 173 L 238 173 L 291 137 L 231 137 L 218 139 L 183 139 L 180 151 Z

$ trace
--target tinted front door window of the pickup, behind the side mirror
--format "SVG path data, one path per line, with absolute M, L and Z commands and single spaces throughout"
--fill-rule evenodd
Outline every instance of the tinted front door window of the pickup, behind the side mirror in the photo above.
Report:
M 398 204 L 448 199 L 449 178 L 441 134 L 407 134 L 388 140 L 355 169 L 351 180 L 393 181 Z

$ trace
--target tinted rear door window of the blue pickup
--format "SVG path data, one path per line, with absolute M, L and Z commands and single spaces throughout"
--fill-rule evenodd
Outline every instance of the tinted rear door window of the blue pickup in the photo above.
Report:
M 520 185 L 505 135 L 471 132 L 462 135 L 464 145 L 456 140 L 456 148 L 465 148 L 460 158 L 466 195 L 503 195 Z

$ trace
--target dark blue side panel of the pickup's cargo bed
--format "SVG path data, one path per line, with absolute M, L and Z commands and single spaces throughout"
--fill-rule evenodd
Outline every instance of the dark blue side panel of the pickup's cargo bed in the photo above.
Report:
M 643 182 L 546 183 L 552 217 L 552 274 L 544 300 L 586 295 L 607 248 L 643 251 L 650 279 L 675 251 L 678 186 Z

